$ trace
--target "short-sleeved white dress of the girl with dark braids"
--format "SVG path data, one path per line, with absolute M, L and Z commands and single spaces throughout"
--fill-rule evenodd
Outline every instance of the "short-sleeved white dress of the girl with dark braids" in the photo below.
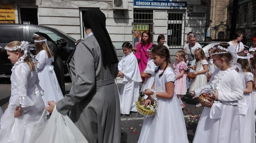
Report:
M 159 70 L 155 75 L 156 92 L 165 92 L 165 83 L 176 80 L 171 67 L 166 68 L 159 78 L 162 72 Z M 177 96 L 174 94 L 172 99 L 157 98 L 157 113 L 145 117 L 138 143 L 188 143 L 185 120 Z

